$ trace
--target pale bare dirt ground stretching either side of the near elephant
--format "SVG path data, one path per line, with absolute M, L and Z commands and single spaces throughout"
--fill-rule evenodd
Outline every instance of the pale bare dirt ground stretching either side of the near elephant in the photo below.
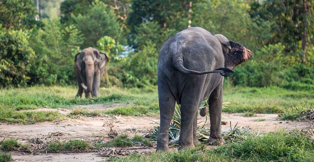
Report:
M 86 109 L 107 109 L 120 106 L 121 104 L 111 105 L 84 105 L 77 106 L 79 108 Z M 41 110 L 52 110 L 60 113 L 69 113 L 70 109 L 50 109 L 43 108 Z M 32 110 L 39 111 L 39 109 Z M 278 114 L 256 114 L 255 117 L 243 117 L 241 113 L 228 113 L 224 114 L 223 121 L 228 122 L 227 125 L 222 125 L 222 130 L 230 129 L 230 122 L 232 127 L 236 123 L 239 127 L 249 127 L 254 131 L 267 133 L 275 130 L 284 129 L 290 131 L 293 129 L 310 127 L 310 123 L 306 122 L 287 122 L 281 121 L 278 118 Z M 263 118 L 265 121 L 255 122 L 255 119 Z M 204 121 L 205 117 L 200 120 Z M 31 125 L 20 124 L 8 124 L 0 123 L 0 140 L 3 138 L 16 138 L 21 143 L 29 143 L 31 138 L 45 138 L 51 140 L 66 140 L 71 138 L 79 138 L 87 141 L 96 139 L 110 140 L 107 133 L 109 133 L 112 127 L 118 134 L 127 133 L 133 134 L 146 134 L 154 126 L 158 126 L 156 122 L 159 122 L 159 117 L 82 117 L 78 119 L 68 119 L 64 121 L 56 122 L 43 122 L 35 123 Z M 209 127 L 209 119 L 205 127 Z M 55 133 L 61 133 L 61 136 L 51 136 Z M 153 151 L 150 149 L 148 151 Z M 96 153 L 70 153 L 70 154 L 57 154 L 48 153 L 42 155 L 33 155 L 22 152 L 11 152 L 12 158 L 18 161 L 49 161 L 49 162 L 69 162 L 69 161 L 106 161 L 106 157 L 98 156 Z

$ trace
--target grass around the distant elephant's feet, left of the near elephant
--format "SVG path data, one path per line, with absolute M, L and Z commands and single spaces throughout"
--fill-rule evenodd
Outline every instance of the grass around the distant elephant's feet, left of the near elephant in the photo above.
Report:
M 25 111 L 43 106 L 51 108 L 71 108 L 74 105 L 84 104 L 110 104 L 110 103 L 133 103 L 138 107 L 119 107 L 116 112 L 88 111 L 83 109 L 74 110 L 70 117 L 78 115 L 101 116 L 102 114 L 117 115 L 143 115 L 156 114 L 158 110 L 156 88 L 100 88 L 100 97 L 90 99 L 75 98 L 77 89 L 74 86 L 34 86 L 28 88 L 15 88 L 0 90 L 0 122 L 9 123 L 35 123 L 53 120 L 62 120 L 64 115 L 55 111 Z M 143 108 L 145 107 L 145 108 Z M 146 110 L 148 110 L 146 112 Z M 22 111 L 23 110 L 23 111 Z M 135 110 L 138 112 L 127 112 Z

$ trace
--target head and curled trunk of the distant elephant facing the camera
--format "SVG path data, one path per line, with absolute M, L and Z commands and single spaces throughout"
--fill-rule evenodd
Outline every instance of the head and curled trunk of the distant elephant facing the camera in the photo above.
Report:
M 83 82 L 81 86 L 86 93 L 92 91 L 95 72 L 103 72 L 101 69 L 105 68 L 108 61 L 109 58 L 105 53 L 91 47 L 85 48 L 75 55 L 74 63 L 78 67 L 79 76 Z

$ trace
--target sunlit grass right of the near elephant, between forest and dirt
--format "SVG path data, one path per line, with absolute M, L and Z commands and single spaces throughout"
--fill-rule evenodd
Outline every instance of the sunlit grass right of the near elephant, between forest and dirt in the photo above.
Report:
M 297 118 L 298 112 L 314 106 L 313 91 L 293 91 L 280 87 L 224 87 L 226 112 L 280 113 L 284 120 Z

